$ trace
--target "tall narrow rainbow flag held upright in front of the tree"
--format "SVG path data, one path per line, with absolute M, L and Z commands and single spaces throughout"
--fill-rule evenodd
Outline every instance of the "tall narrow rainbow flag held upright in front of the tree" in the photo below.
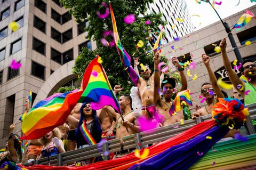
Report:
M 127 74 L 131 78 L 133 84 L 135 86 L 138 85 L 138 79 L 139 75 L 134 71 L 134 69 L 131 66 L 131 57 L 130 55 L 124 50 L 124 47 L 121 44 L 118 32 L 117 32 L 117 27 L 116 27 L 116 20 L 115 20 L 115 15 L 113 12 L 113 9 L 111 7 L 111 4 L 109 2 L 109 8 L 110 8 L 110 14 L 111 14 L 111 19 L 112 19 L 112 24 L 113 24 L 113 33 L 114 33 L 114 38 L 115 38 L 115 43 L 116 47 L 119 49 L 119 51 L 122 53 L 123 58 L 121 58 L 122 63 L 124 64 L 124 67 L 127 71 Z

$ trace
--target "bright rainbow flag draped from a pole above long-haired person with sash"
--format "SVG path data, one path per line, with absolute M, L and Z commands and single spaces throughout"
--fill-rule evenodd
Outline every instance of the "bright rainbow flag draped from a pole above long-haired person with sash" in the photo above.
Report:
M 84 77 L 87 77 L 84 82 L 85 90 L 78 102 L 90 102 L 94 110 L 109 105 L 121 113 L 118 100 L 98 59 L 99 55 L 89 63 L 84 72 Z

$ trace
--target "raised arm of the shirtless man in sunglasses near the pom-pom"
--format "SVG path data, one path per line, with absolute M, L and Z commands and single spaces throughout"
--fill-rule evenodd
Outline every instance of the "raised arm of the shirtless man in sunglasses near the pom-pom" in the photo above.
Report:
M 222 94 L 220 87 L 217 84 L 217 78 L 215 77 L 215 75 L 212 71 L 212 68 L 210 66 L 210 60 L 211 60 L 210 56 L 202 54 L 202 61 L 207 69 L 213 90 L 214 90 L 215 94 L 217 95 L 217 101 L 218 101 L 218 98 L 224 98 L 224 95 Z

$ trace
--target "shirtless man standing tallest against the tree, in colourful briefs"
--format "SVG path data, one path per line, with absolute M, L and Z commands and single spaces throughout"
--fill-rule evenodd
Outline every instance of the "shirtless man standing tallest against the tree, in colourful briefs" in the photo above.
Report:
M 134 59 L 134 70 L 139 75 L 138 70 L 138 62 L 139 58 Z M 143 70 L 140 68 L 140 74 L 141 76 L 138 78 L 138 90 L 140 93 L 140 99 L 141 99 L 141 109 L 142 113 L 141 115 L 145 115 L 147 118 L 154 117 L 155 114 L 155 106 L 154 106 L 154 77 L 155 75 L 160 76 L 159 71 L 154 71 L 153 74 L 151 74 L 151 70 L 148 66 L 145 66 L 146 70 Z

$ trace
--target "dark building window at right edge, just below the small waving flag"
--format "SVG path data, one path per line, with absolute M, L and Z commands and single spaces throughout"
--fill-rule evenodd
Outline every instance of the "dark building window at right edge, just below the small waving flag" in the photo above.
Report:
M 256 26 L 236 34 L 241 45 L 245 44 L 245 42 L 247 41 L 253 42 L 256 40 L 255 29 L 256 29 Z

